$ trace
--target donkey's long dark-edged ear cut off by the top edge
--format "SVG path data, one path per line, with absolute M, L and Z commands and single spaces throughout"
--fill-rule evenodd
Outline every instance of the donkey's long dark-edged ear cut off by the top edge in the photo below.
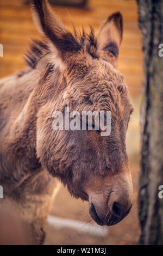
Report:
M 78 52 L 80 45 L 54 15 L 47 0 L 32 0 L 32 3 L 33 19 L 37 28 L 51 41 L 62 60 L 66 59 L 66 54 Z

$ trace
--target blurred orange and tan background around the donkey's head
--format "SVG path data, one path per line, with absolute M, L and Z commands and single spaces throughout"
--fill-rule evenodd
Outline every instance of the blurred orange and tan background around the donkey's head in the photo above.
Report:
M 137 190 L 139 178 L 139 109 L 143 81 L 141 32 L 137 27 L 137 4 L 134 0 L 51 0 L 53 9 L 64 24 L 73 31 L 77 28 L 95 32 L 101 23 L 115 11 L 121 11 L 124 21 L 123 40 L 118 69 L 126 77 L 134 113 L 127 133 L 127 151 L 134 185 L 134 205 L 130 214 L 119 224 L 107 227 L 103 236 L 82 233 L 80 230 L 48 225 L 46 245 L 135 245 L 140 228 L 137 218 Z M 0 0 L 0 77 L 26 69 L 23 53 L 30 39 L 39 37 L 33 24 L 29 2 L 26 0 Z M 52 206 L 51 215 L 68 220 L 92 223 L 89 207 L 82 200 L 74 199 L 62 185 Z M 85 224 L 87 225 L 87 224 Z M 98 227 L 97 227 L 98 231 Z

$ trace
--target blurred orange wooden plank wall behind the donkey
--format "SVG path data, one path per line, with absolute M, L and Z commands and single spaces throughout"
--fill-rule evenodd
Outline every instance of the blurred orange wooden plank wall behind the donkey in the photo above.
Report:
M 0 77 L 26 68 L 23 52 L 30 38 L 38 36 L 29 5 L 24 0 L 0 0 L 0 44 L 4 56 L 0 57 Z M 134 0 L 89 0 L 87 9 L 54 7 L 65 25 L 72 30 L 72 21 L 81 28 L 89 24 L 98 31 L 101 22 L 114 11 L 121 11 L 124 19 L 123 41 L 119 69 L 126 76 L 131 94 L 140 94 L 142 74 L 141 33 L 137 27 L 137 6 Z

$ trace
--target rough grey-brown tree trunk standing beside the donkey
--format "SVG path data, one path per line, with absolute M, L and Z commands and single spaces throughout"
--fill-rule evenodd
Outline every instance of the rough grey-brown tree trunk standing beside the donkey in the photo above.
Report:
M 163 0 L 137 0 L 145 83 L 141 106 L 139 220 L 141 245 L 163 244 Z M 162 51 L 163 52 L 163 51 Z

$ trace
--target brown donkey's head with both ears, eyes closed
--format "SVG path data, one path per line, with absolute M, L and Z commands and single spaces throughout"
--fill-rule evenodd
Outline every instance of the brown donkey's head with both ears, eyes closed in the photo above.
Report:
M 78 35 L 75 29 L 74 35 L 70 33 L 47 1 L 33 1 L 33 14 L 52 63 L 47 77 L 40 80 L 46 104 L 37 115 L 37 156 L 74 197 L 89 201 L 93 220 L 101 225 L 116 224 L 130 211 L 133 197 L 126 153 L 133 107 L 117 70 L 122 16 L 109 16 L 95 37 L 92 29 L 89 35 L 84 30 Z M 95 129 L 54 131 L 52 113 L 65 114 L 65 107 L 79 113 L 110 111 L 110 135 L 101 136 Z

